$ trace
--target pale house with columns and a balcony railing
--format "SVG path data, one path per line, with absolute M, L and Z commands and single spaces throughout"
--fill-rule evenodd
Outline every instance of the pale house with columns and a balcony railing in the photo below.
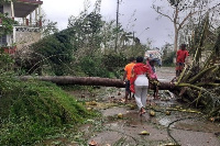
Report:
M 14 0 L 0 4 L 0 12 L 16 22 L 13 33 L 0 37 L 0 47 L 13 54 L 23 46 L 37 42 L 42 32 L 41 0 Z M 0 27 L 2 20 L 0 19 Z

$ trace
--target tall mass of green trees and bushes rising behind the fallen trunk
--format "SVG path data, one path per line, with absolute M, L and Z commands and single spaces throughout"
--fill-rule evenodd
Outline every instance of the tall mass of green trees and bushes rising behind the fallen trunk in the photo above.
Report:
M 119 78 L 127 59 L 144 56 L 146 46 L 121 25 L 116 30 L 113 21 L 103 21 L 96 10 L 70 16 L 66 30 L 46 35 L 29 52 L 16 54 L 18 75 Z M 116 52 L 117 33 L 120 37 Z

